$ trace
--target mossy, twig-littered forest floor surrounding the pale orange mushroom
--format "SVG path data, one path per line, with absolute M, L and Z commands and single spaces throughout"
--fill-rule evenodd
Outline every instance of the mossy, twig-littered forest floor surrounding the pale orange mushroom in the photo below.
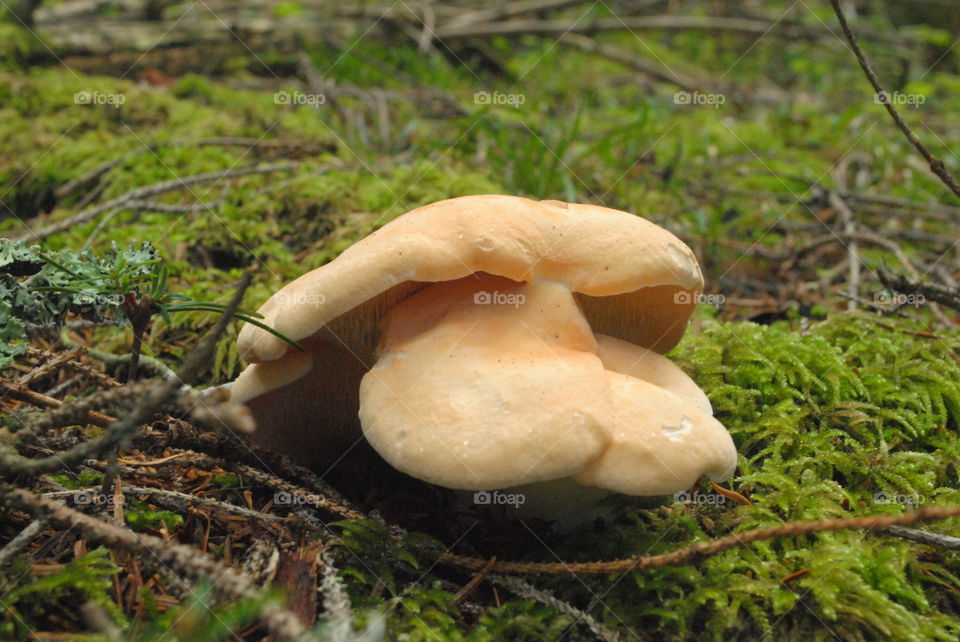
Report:
M 960 506 L 960 200 L 830 4 L 328 4 L 0 22 L 0 235 L 20 241 L 0 245 L 0 637 L 957 639 L 960 518 L 937 510 Z M 879 6 L 853 28 L 960 175 L 958 33 Z M 706 290 L 670 357 L 734 437 L 723 487 L 575 533 L 488 523 L 414 482 L 333 487 L 158 383 L 237 375 L 239 320 L 198 347 L 236 292 L 256 310 L 394 217 L 483 193 L 634 212 L 694 249 Z M 58 263 L 94 303 L 20 318 Z M 589 564 L 766 527 L 786 530 Z

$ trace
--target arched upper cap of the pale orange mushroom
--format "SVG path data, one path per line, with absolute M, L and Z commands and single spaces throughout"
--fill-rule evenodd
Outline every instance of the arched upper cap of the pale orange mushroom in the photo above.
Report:
M 259 310 L 296 341 L 326 328 L 371 362 L 387 310 L 427 283 L 486 272 L 513 281 L 548 279 L 579 293 L 597 332 L 663 353 L 683 334 L 703 277 L 693 252 L 667 230 L 595 205 L 515 196 L 464 196 L 415 209 L 277 291 Z M 248 361 L 278 359 L 276 336 L 247 324 Z

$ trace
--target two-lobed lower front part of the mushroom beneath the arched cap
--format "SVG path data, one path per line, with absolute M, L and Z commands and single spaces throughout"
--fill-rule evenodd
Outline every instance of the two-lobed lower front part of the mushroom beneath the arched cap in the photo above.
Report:
M 428 286 L 387 316 L 361 383 L 364 434 L 395 468 L 459 489 L 572 476 L 658 495 L 732 472 L 733 441 L 689 377 L 637 346 L 599 343 L 563 284 Z

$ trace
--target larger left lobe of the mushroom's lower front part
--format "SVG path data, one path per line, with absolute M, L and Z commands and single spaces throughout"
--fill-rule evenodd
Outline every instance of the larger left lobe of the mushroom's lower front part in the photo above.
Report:
M 607 395 L 603 364 L 562 284 L 480 275 L 431 286 L 391 311 L 384 344 L 360 386 L 360 420 L 409 475 L 460 489 L 566 477 L 610 441 L 610 408 L 595 403 Z

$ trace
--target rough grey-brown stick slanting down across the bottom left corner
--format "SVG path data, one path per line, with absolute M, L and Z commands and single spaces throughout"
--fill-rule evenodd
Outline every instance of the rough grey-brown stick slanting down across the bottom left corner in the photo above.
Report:
M 257 596 L 256 587 L 250 578 L 196 549 L 106 524 L 28 490 L 0 483 L 0 507 L 28 511 L 63 529 L 75 527 L 78 532 L 83 533 L 84 539 L 108 548 L 119 548 L 156 558 L 193 581 L 209 580 L 214 593 L 225 601 L 247 600 Z M 277 637 L 292 638 L 304 632 L 299 618 L 286 609 L 264 610 L 260 617 L 264 625 Z

